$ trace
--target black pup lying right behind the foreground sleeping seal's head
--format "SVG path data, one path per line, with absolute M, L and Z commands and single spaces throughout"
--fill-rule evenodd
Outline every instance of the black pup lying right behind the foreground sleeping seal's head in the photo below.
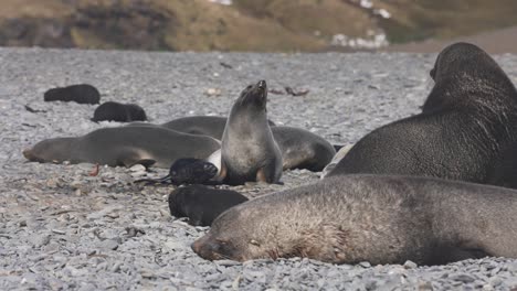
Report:
M 221 213 L 246 201 L 235 191 L 191 185 L 170 193 L 169 208 L 172 216 L 188 217 L 191 225 L 210 226 Z

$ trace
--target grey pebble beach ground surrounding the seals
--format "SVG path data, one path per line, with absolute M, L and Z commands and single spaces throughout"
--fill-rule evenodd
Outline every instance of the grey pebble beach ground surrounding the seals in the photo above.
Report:
M 102 100 L 136 103 L 152 122 L 187 115 L 226 115 L 245 85 L 309 89 L 270 95 L 270 118 L 336 143 L 418 112 L 432 87 L 435 55 L 197 54 L 0 48 L 0 290 L 509 290 L 517 260 L 487 258 L 443 267 L 334 266 L 307 259 L 245 263 L 204 261 L 190 244 L 207 228 L 170 216 L 172 187 L 140 187 L 159 176 L 92 164 L 28 163 L 22 149 L 42 139 L 78 136 L 115 122 L 91 122 L 95 106 L 43 103 L 54 86 L 89 83 Z M 496 57 L 517 83 L 517 56 Z M 230 65 L 222 66 L 220 63 Z M 220 96 L 207 95 L 220 89 Z M 29 105 L 44 112 L 29 112 Z M 285 185 L 233 187 L 249 196 L 310 183 L 291 171 Z

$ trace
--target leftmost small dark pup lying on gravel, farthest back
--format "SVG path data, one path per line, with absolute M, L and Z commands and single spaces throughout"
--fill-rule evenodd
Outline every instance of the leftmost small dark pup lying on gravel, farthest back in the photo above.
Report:
M 97 88 L 88 84 L 52 88 L 43 95 L 45 101 L 75 101 L 78 104 L 98 104 L 101 94 Z

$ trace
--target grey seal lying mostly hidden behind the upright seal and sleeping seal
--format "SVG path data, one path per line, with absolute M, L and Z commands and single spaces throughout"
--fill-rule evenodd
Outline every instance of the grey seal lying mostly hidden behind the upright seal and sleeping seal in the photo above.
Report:
M 186 132 L 190 134 L 203 134 L 221 140 L 226 126 L 228 118 L 220 116 L 188 116 L 181 117 L 160 126 Z M 275 122 L 267 120 L 270 127 L 274 127 Z

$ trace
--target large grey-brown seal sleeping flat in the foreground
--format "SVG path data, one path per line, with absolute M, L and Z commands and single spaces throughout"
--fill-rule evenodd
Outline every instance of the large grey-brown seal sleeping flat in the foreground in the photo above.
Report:
M 307 257 L 441 265 L 517 258 L 517 191 L 422 176 L 342 175 L 236 205 L 192 249 L 209 260 Z

